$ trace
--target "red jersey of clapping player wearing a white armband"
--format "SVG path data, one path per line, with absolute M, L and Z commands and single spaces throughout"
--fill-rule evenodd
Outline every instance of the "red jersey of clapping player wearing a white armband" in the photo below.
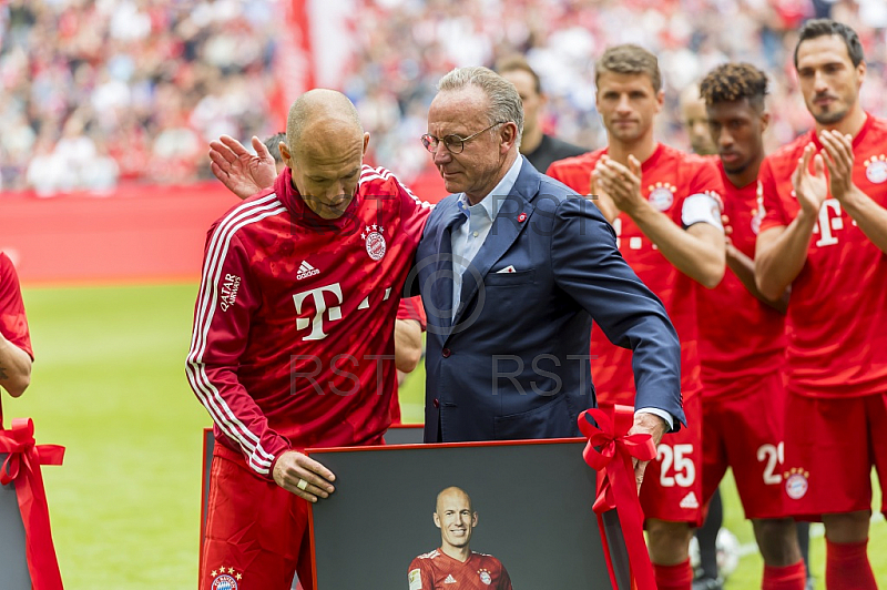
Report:
M 606 149 L 554 162 L 548 175 L 579 194 L 588 194 L 591 173 Z M 659 144 L 641 164 L 643 195 L 677 225 L 687 196 L 721 192 L 721 176 L 714 163 Z M 702 389 L 699 329 L 696 327 L 696 291 L 699 283 L 681 273 L 641 232 L 629 215 L 620 212 L 613 221 L 616 244 L 622 257 L 638 277 L 662 299 L 681 338 L 681 394 L 684 399 Z M 602 404 L 634 405 L 632 352 L 615 346 L 597 326 L 591 330 L 591 374 L 598 400 Z

